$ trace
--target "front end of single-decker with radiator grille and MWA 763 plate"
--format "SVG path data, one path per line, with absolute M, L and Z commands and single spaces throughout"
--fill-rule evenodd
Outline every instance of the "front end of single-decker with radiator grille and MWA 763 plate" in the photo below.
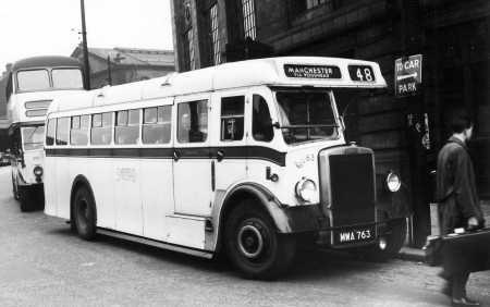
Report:
M 282 191 L 289 194 L 283 197 L 289 204 L 311 207 L 311 212 L 318 206 L 311 216 L 315 223 L 308 219 L 304 226 L 314 231 L 317 244 L 391 256 L 406 236 L 407 199 L 401 196 L 401 179 L 379 168 L 381 163 L 375 167 L 372 149 L 345 140 L 345 110 L 385 87 L 379 65 L 348 59 L 302 60 L 310 62 L 280 63 L 284 85 L 271 87 L 273 125 L 287 146 L 283 174 L 287 186 Z

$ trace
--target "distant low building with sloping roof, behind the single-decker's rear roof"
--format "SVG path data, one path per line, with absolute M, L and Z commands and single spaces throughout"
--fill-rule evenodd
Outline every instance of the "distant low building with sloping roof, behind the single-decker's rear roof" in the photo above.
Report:
M 78 46 L 71 57 L 83 62 Z M 119 85 L 164 76 L 175 71 L 174 54 L 169 50 L 137 48 L 88 48 L 90 88 Z

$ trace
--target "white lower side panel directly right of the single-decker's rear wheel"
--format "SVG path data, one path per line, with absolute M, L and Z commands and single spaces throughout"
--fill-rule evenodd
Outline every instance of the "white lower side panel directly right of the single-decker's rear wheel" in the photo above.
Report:
M 88 165 L 87 165 L 88 163 Z M 113 161 L 106 158 L 95 158 L 81 163 L 85 170 L 89 168 L 90 187 L 97 206 L 97 226 L 115 229 L 115 209 L 113 199 Z M 86 171 L 82 170 L 82 174 Z

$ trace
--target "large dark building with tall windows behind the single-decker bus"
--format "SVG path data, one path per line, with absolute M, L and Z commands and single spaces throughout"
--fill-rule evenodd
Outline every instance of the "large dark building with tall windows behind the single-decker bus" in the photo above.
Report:
M 172 19 L 177 71 L 270 56 L 380 63 L 389 89 L 348 105 L 347 137 L 375 149 L 377 173 L 401 173 L 415 245 L 430 231 L 432 171 L 454 110 L 476 123 L 478 189 L 490 198 L 489 1 L 172 0 Z M 397 98 L 394 62 L 412 54 L 422 54 L 422 87 Z

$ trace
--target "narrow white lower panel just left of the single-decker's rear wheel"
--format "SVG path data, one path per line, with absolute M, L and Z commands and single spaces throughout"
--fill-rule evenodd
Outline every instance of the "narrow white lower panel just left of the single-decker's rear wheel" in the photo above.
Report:
M 56 181 L 57 181 L 57 217 L 62 219 L 70 219 L 70 194 L 72 191 L 72 180 L 70 177 L 70 158 L 69 157 L 57 157 L 57 167 L 54 170 Z

